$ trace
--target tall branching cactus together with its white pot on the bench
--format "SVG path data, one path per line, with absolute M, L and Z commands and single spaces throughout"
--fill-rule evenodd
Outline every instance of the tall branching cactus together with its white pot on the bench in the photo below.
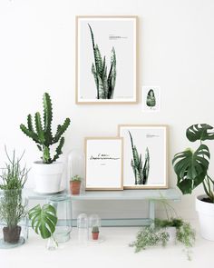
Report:
M 63 124 L 58 124 L 56 133 L 52 132 L 53 108 L 51 97 L 48 93 L 43 96 L 44 116 L 43 123 L 39 112 L 34 114 L 34 125 L 32 115 L 27 116 L 27 126 L 20 124 L 21 130 L 30 137 L 42 152 L 42 161 L 36 161 L 33 165 L 35 191 L 41 194 L 53 194 L 59 192 L 63 174 L 63 163 L 57 162 L 60 154 L 63 154 L 63 133 L 70 124 L 66 118 Z M 51 145 L 58 144 L 55 154 L 51 155 Z

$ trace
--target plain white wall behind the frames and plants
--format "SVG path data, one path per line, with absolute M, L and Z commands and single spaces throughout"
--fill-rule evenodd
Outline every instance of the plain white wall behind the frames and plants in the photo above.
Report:
M 72 119 L 64 155 L 83 148 L 83 137 L 115 135 L 118 124 L 169 124 L 170 159 L 190 146 L 190 124 L 213 120 L 214 2 L 212 0 L 1 0 L 0 1 L 0 161 L 8 149 L 23 149 L 26 163 L 39 157 L 35 144 L 19 130 L 26 115 L 42 109 L 42 94 L 53 98 L 55 124 Z M 160 85 L 158 114 L 143 114 L 135 105 L 76 105 L 75 15 L 138 15 L 140 18 L 139 88 Z M 214 144 L 210 144 L 214 153 Z M 214 173 L 213 168 L 210 170 Z M 33 184 L 32 176 L 29 184 Z M 170 166 L 170 186 L 176 178 Z M 201 188 L 194 194 L 199 194 Z M 112 210 L 112 204 L 114 211 Z M 142 203 L 82 203 L 80 211 L 113 216 L 141 215 Z M 134 209 L 133 209 L 134 207 Z M 179 213 L 195 216 L 194 196 L 176 204 Z M 79 213 L 79 210 L 76 213 Z

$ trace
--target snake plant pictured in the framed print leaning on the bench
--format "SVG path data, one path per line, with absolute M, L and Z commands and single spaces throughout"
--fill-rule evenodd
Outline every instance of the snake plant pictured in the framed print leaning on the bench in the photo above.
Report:
M 133 139 L 130 131 L 129 134 L 131 139 L 131 151 L 132 151 L 131 167 L 135 178 L 134 184 L 147 184 L 150 172 L 149 149 L 148 147 L 146 148 L 145 162 L 142 166 L 141 154 L 139 155 L 136 145 L 133 144 Z

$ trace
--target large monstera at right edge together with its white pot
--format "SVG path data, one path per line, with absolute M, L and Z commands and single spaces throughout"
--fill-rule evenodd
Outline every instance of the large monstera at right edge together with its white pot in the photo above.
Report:
M 196 210 L 199 213 L 200 233 L 205 239 L 214 241 L 214 180 L 209 176 L 209 147 L 204 141 L 214 140 L 213 127 L 209 124 L 193 124 L 186 136 L 192 143 L 199 141 L 196 151 L 190 148 L 175 154 L 172 160 L 177 185 L 182 194 L 203 185 L 205 194 L 196 198 Z

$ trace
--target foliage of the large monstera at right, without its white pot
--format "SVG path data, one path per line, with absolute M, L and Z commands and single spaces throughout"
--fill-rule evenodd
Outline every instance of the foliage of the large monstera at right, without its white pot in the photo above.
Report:
M 214 203 L 214 180 L 209 176 L 209 147 L 203 141 L 214 140 L 213 127 L 209 124 L 193 124 L 186 136 L 190 142 L 199 141 L 196 151 L 190 148 L 175 154 L 172 160 L 175 174 L 177 174 L 177 186 L 182 194 L 191 194 L 199 184 L 203 184 L 208 202 Z

